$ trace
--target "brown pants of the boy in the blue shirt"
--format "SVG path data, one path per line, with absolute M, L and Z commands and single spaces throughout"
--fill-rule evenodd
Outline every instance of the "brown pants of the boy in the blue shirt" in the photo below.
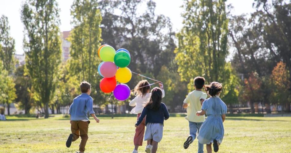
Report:
M 76 141 L 79 136 L 81 136 L 81 143 L 79 145 L 79 151 L 84 152 L 86 142 L 88 140 L 88 127 L 89 127 L 90 121 L 81 121 L 81 120 L 72 120 L 71 121 L 71 131 L 74 134 L 73 141 Z

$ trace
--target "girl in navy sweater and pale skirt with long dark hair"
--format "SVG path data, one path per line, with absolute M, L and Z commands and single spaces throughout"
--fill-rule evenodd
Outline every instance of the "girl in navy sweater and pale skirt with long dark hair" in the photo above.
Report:
M 147 147 L 147 153 L 157 152 L 158 143 L 163 137 L 164 120 L 170 117 L 168 109 L 164 103 L 162 103 L 162 90 L 158 87 L 153 88 L 152 95 L 149 102 L 142 110 L 142 114 L 139 117 L 135 127 L 141 124 L 144 117 L 146 117 L 146 132 L 144 140 L 150 140 L 152 147 Z

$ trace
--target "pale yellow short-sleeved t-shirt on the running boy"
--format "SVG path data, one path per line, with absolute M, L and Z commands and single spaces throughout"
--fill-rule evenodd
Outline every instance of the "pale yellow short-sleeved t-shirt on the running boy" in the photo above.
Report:
M 189 104 L 187 107 L 187 116 L 185 117 L 187 120 L 196 123 L 205 121 L 205 115 L 197 116 L 196 112 L 200 111 L 202 107 L 200 99 L 205 100 L 206 98 L 207 94 L 198 90 L 194 90 L 187 95 L 184 100 L 184 103 Z

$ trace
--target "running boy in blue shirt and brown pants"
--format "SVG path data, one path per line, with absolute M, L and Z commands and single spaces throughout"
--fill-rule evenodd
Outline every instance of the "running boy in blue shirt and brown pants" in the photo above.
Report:
M 80 84 L 81 95 L 74 98 L 72 105 L 69 109 L 70 123 L 72 133 L 68 137 L 66 146 L 70 147 L 72 141 L 76 141 L 81 136 L 81 143 L 79 151 L 83 153 L 85 151 L 85 145 L 88 140 L 88 127 L 89 119 L 87 113 L 89 112 L 92 117 L 99 123 L 99 119 L 95 116 L 93 111 L 93 98 L 91 94 L 90 83 L 84 81 Z

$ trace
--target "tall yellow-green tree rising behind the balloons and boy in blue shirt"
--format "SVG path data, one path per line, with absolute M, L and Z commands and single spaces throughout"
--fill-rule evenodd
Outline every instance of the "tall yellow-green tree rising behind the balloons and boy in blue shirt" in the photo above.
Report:
M 94 102 L 102 99 L 99 90 L 100 75 L 97 67 L 101 63 L 98 57 L 98 48 L 101 41 L 100 23 L 102 20 L 98 3 L 94 0 L 75 0 L 71 6 L 70 32 L 70 76 L 77 76 L 77 81 L 89 82 L 92 86 Z

